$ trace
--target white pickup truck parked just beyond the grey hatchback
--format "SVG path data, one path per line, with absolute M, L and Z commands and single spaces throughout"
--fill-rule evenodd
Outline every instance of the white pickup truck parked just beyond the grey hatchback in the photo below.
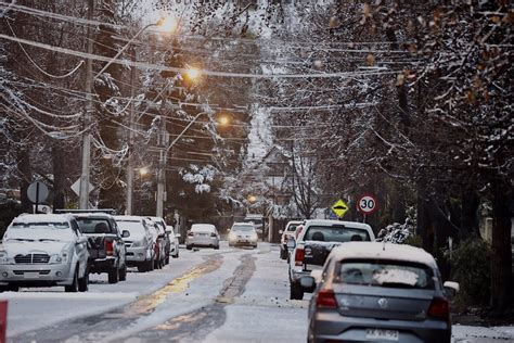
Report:
M 368 224 L 326 219 L 306 220 L 292 247 L 290 256 L 290 297 L 304 298 L 305 289 L 300 278 L 311 270 L 321 269 L 333 247 L 354 240 L 374 241 L 375 236 Z

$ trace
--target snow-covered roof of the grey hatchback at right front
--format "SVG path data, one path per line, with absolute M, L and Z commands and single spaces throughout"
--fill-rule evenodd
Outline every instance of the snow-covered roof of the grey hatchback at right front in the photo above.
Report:
M 393 259 L 420 263 L 436 268 L 434 256 L 423 249 L 382 242 L 347 242 L 332 250 L 331 259 Z

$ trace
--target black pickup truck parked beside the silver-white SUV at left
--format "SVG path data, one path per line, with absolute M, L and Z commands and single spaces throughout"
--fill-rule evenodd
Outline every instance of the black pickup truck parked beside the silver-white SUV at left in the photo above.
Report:
M 64 212 L 64 211 L 60 211 Z M 89 272 L 108 275 L 108 283 L 127 279 L 126 247 L 114 217 L 101 211 L 65 211 L 77 219 L 80 230 L 89 239 Z M 107 212 L 107 211 L 106 211 Z

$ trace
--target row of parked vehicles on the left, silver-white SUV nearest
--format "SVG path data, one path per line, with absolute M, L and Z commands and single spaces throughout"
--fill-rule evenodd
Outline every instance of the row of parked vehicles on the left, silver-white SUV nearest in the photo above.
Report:
M 150 271 L 178 257 L 179 237 L 157 217 L 105 209 L 23 214 L 0 246 L 0 291 L 64 285 L 66 292 L 85 292 L 90 274 L 107 274 L 117 283 L 126 280 L 127 267 Z

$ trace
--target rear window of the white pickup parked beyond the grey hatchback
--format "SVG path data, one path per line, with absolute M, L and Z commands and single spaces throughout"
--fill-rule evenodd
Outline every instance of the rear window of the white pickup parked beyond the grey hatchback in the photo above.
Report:
M 371 241 L 367 230 L 344 226 L 309 226 L 304 241 L 350 242 Z

